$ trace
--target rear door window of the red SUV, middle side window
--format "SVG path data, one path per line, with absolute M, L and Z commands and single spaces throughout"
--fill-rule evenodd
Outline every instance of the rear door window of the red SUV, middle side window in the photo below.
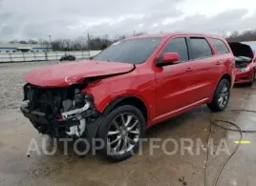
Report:
M 192 58 L 203 58 L 212 55 L 211 48 L 205 38 L 190 37 Z

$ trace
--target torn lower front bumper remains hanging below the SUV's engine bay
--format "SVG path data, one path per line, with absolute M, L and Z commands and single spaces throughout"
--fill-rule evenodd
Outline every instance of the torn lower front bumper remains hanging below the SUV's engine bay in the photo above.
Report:
M 103 120 L 102 116 L 96 116 L 93 111 L 83 115 L 83 118 L 55 119 L 51 115 L 30 111 L 26 106 L 21 106 L 20 110 L 25 117 L 30 119 L 33 127 L 39 133 L 48 134 L 53 138 L 83 137 L 92 141 Z M 93 115 L 94 119 L 91 117 Z

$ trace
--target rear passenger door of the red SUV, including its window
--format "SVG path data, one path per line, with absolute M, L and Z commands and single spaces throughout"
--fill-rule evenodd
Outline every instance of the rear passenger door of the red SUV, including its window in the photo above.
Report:
M 218 68 L 214 50 L 202 36 L 188 37 L 191 71 L 186 73 L 189 104 L 207 99 L 215 89 Z

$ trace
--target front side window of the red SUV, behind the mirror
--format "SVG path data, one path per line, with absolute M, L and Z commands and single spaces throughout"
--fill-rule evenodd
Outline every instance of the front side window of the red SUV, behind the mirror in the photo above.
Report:
M 188 52 L 185 38 L 172 39 L 170 43 L 165 47 L 163 52 L 178 52 L 180 54 L 181 61 L 188 60 Z

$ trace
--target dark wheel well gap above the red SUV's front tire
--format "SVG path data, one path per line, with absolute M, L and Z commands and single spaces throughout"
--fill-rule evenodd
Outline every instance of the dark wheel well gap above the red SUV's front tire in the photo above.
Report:
M 132 106 L 136 107 L 137 109 L 139 109 L 141 114 L 144 116 L 145 121 L 146 122 L 148 121 L 148 112 L 147 112 L 147 108 L 146 108 L 144 102 L 141 99 L 139 99 L 138 97 L 134 97 L 134 96 L 118 98 L 117 100 L 115 100 L 113 102 L 113 104 L 111 104 L 111 107 L 108 110 L 108 113 L 110 113 L 117 107 L 120 107 L 123 105 L 132 105 Z

